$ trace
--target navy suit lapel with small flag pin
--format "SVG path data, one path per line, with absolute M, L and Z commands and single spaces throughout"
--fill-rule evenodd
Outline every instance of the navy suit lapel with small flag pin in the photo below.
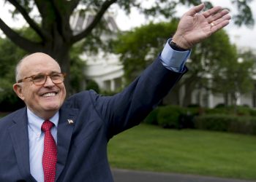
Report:
M 59 124 L 57 132 L 57 149 L 58 161 L 56 165 L 56 181 L 61 175 L 62 170 L 67 161 L 67 154 L 69 152 L 70 141 L 72 138 L 73 128 L 75 127 L 75 119 L 78 115 L 78 109 L 75 108 L 61 108 L 59 112 Z

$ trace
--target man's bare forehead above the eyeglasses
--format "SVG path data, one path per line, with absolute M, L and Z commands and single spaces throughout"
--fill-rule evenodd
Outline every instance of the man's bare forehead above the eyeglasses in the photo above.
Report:
M 20 64 L 20 74 L 22 75 L 50 73 L 52 71 L 61 72 L 61 68 L 56 60 L 43 53 L 29 55 Z

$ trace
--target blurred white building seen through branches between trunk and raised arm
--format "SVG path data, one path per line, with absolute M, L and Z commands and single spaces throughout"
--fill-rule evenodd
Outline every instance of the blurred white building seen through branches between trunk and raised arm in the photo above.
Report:
M 72 29 L 79 32 L 85 29 L 93 20 L 93 15 L 83 15 L 76 13 L 70 19 Z M 108 25 L 108 29 L 113 32 L 118 32 L 113 15 L 106 13 L 103 17 Z M 110 35 L 103 35 L 101 39 L 106 40 L 112 38 Z M 86 52 L 80 56 L 82 60 L 86 60 L 85 75 L 86 79 L 91 79 L 97 82 L 101 90 L 115 91 L 121 88 L 123 83 L 124 70 L 119 62 L 118 55 L 106 54 L 99 50 L 97 55 L 86 55 Z

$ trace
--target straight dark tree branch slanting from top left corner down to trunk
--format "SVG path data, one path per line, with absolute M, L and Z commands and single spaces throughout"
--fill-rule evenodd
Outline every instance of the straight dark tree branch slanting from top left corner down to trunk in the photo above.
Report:
M 20 14 L 24 17 L 24 19 L 26 20 L 27 23 L 29 23 L 30 27 L 34 29 L 34 31 L 37 32 L 37 34 L 42 38 L 45 39 L 45 33 L 42 32 L 42 30 L 39 28 L 39 26 L 37 25 L 37 23 L 34 22 L 34 20 L 31 19 L 31 17 L 29 17 L 28 12 L 26 12 L 26 9 L 24 9 L 23 7 L 20 6 L 20 4 L 18 4 L 18 1 L 15 0 L 7 0 L 9 1 L 19 12 Z

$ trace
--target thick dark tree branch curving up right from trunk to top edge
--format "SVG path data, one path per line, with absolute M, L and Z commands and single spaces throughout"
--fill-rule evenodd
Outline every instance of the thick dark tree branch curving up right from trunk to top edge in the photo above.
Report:
M 72 36 L 71 42 L 72 44 L 76 41 L 80 41 L 84 37 L 88 36 L 89 33 L 94 29 L 94 27 L 99 23 L 99 20 L 103 17 L 107 9 L 110 7 L 111 4 L 115 3 L 117 0 L 107 0 L 102 4 L 102 7 L 99 9 L 97 15 L 95 15 L 94 20 L 92 20 L 91 24 L 81 33 L 78 33 L 76 36 Z

